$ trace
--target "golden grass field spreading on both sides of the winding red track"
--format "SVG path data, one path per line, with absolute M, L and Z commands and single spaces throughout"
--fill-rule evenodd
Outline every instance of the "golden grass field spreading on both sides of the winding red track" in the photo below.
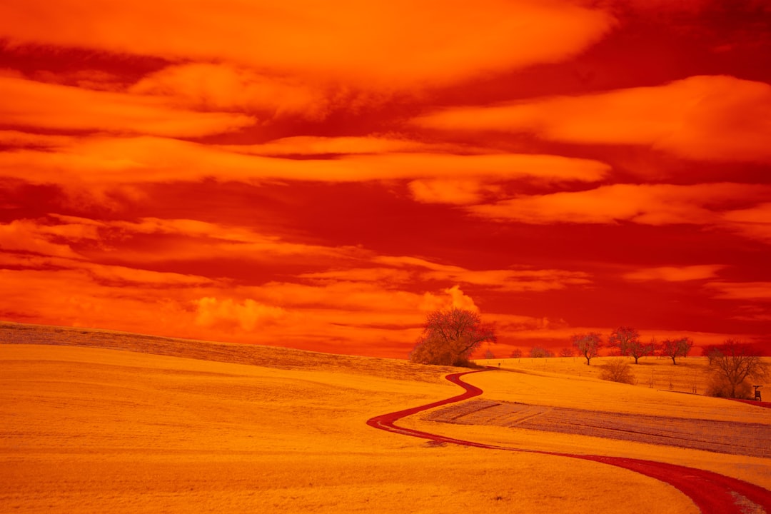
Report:
M 365 424 L 458 394 L 443 380 L 453 368 L 14 324 L 0 324 L 0 341 L 15 343 L 0 344 L 0 512 L 698 512 L 672 486 L 613 466 Z M 771 431 L 769 409 L 583 376 L 493 371 L 468 381 L 483 401 Z M 771 488 L 763 456 L 430 415 L 404 424 L 684 464 Z

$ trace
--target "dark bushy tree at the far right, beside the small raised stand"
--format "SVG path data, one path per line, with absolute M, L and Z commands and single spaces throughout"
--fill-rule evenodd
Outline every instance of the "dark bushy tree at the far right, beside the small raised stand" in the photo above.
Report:
M 723 344 L 710 348 L 709 368 L 712 381 L 709 394 L 728 398 L 746 398 L 749 379 L 763 380 L 769 375 L 769 366 L 749 344 L 726 339 Z

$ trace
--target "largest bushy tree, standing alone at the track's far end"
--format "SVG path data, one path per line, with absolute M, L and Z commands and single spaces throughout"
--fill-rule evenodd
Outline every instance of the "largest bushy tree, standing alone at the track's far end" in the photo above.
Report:
M 483 324 L 474 311 L 452 307 L 433 311 L 426 317 L 423 334 L 409 354 L 421 364 L 468 365 L 469 356 L 485 341 L 497 341 L 495 330 Z

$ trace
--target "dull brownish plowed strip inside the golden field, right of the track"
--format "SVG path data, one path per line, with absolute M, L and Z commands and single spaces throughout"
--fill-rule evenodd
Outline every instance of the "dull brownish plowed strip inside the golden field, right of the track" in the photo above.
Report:
M 478 408 L 475 408 L 478 405 Z M 497 425 L 543 432 L 591 435 L 678 446 L 708 452 L 771 457 L 771 431 L 760 423 L 722 422 L 709 419 L 667 418 L 618 412 L 545 408 L 504 401 L 468 401 L 463 415 L 453 407 L 432 412 L 434 422 L 460 425 Z

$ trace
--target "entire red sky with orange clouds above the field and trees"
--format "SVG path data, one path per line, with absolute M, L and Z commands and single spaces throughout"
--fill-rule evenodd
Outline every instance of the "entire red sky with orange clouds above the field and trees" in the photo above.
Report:
M 5 0 L 0 320 L 771 354 L 766 0 Z

